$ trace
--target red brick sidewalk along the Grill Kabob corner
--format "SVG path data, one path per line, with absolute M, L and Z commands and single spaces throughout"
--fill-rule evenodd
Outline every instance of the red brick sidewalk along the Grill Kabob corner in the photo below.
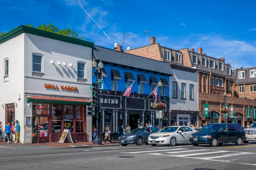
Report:
M 104 147 L 104 146 L 120 146 L 117 141 L 109 143 L 108 141 L 104 143 L 102 142 L 101 145 L 94 145 L 93 142 L 76 142 L 76 143 L 7 143 L 0 142 L 0 149 L 1 148 L 10 148 L 10 149 L 74 149 L 74 148 L 92 148 L 92 147 Z

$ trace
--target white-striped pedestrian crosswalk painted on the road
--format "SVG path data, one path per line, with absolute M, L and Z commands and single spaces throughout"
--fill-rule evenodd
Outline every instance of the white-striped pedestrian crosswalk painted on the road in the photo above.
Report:
M 175 149 L 165 149 L 165 150 L 155 150 L 155 151 L 152 150 L 152 151 L 138 151 L 138 152 L 121 152 L 121 153 L 131 153 L 131 154 L 144 153 L 149 155 L 157 155 L 157 156 L 165 156 L 165 157 L 169 156 L 169 157 L 204 159 L 204 160 L 211 160 L 211 161 L 232 162 L 232 163 L 256 166 L 256 159 L 255 159 L 256 153 L 201 149 L 201 147 L 198 147 L 198 150 L 175 148 Z

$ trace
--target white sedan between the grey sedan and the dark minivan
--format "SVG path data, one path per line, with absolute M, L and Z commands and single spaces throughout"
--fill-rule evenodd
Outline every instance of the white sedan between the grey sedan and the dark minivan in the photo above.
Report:
M 152 146 L 175 146 L 177 143 L 188 143 L 190 135 L 197 132 L 188 126 L 169 126 L 148 136 L 148 144 Z

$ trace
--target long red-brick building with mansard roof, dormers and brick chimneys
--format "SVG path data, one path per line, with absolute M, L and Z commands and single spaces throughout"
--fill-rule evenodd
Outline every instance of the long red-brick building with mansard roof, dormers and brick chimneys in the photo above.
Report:
M 248 95 L 248 97 L 253 98 L 253 90 L 255 87 L 256 91 L 256 86 L 250 84 L 253 82 L 250 82 L 250 85 L 244 85 L 244 89 L 247 88 L 249 91 L 252 88 L 253 92 L 244 93 L 244 95 L 241 94 L 239 96 L 237 91 L 239 87 L 235 85 L 236 77 L 231 70 L 231 66 L 225 64 L 224 58 L 217 59 L 207 56 L 203 53 L 202 48 L 198 48 L 198 52 L 195 52 L 193 48 L 190 50 L 188 48 L 180 50 L 166 48 L 156 43 L 155 37 L 150 38 L 150 45 L 125 52 L 169 62 L 170 64 L 198 68 L 198 109 L 200 111 L 200 123 L 224 122 L 223 115 L 220 114 L 220 108 L 224 106 L 223 93 L 225 91 L 227 92 L 226 105 L 234 106 L 234 117 L 230 118 L 230 115 L 228 115 L 228 123 L 239 123 L 244 127 L 252 123 L 252 119 L 246 118 L 246 108 L 255 108 L 256 100 L 249 100 L 245 97 Z M 253 71 L 253 68 L 250 71 Z M 247 70 L 248 75 L 250 75 L 250 71 Z M 240 98 L 242 96 L 243 98 Z M 209 104 L 208 118 L 204 117 L 204 104 Z

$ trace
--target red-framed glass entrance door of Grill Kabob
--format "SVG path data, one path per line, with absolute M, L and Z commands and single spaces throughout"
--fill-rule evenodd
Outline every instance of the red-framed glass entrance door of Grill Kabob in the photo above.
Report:
M 49 142 L 49 116 L 38 115 L 38 143 Z

